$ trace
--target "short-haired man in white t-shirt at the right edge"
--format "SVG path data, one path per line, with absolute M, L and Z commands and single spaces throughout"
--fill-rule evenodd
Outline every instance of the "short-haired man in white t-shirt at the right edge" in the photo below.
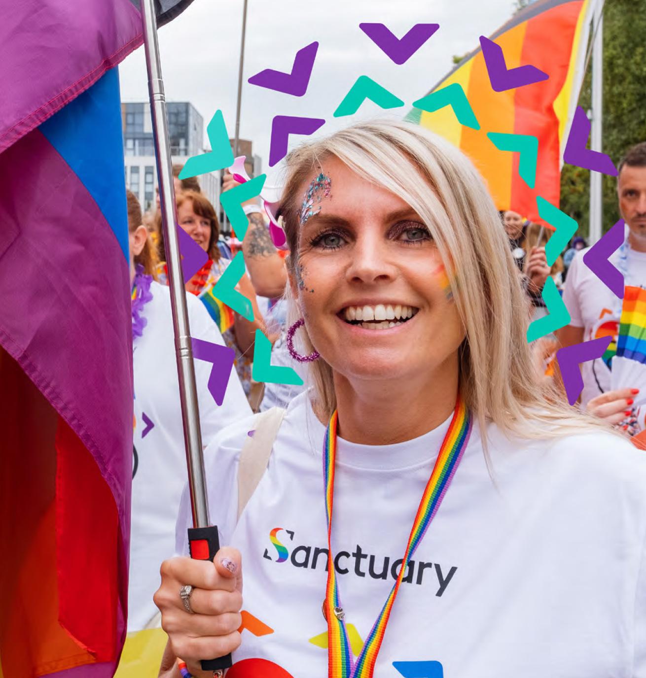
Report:
M 628 252 L 626 285 L 646 287 L 646 142 L 630 148 L 622 158 L 617 178 L 619 210 L 626 222 Z M 567 274 L 563 300 L 570 313 L 570 324 L 558 332 L 562 346 L 571 346 L 605 336 L 613 342 L 603 357 L 583 363 L 582 407 L 611 424 L 626 418 L 634 393 L 630 388 L 610 390 L 610 361 L 614 355 L 622 301 L 584 264 L 582 250 L 575 255 Z M 610 262 L 622 268 L 620 251 Z

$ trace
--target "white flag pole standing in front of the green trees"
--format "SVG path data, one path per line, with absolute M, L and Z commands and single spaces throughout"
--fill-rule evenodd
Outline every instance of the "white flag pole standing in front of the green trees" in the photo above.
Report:
M 603 2 L 599 2 L 594 13 L 592 33 L 592 130 L 590 148 L 602 151 L 603 134 Z M 590 171 L 590 245 L 601 238 L 603 231 L 603 188 L 600 172 Z

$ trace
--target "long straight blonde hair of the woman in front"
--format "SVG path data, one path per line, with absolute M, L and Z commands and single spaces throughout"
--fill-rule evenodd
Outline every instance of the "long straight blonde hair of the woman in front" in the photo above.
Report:
M 539 380 L 526 338 L 527 299 L 487 188 L 465 155 L 419 125 L 358 123 L 288 155 L 280 212 L 292 275 L 303 184 L 330 156 L 399 195 L 429 229 L 466 332 L 459 347 L 459 388 L 483 431 L 488 420 L 504 433 L 529 438 L 580 433 L 590 426 L 609 430 L 567 405 L 551 382 Z M 299 317 L 297 306 L 289 290 L 286 296 L 293 322 Z M 301 343 L 309 352 L 311 342 L 303 330 Z M 332 369 L 319 359 L 309 370 L 316 408 L 328 417 L 336 407 Z

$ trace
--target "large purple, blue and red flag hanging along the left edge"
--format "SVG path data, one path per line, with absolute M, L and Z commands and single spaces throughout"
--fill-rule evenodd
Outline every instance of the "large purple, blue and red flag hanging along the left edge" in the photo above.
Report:
M 189 1 L 156 5 L 170 20 Z M 128 616 L 132 329 L 119 80 L 134 0 L 0 24 L 0 678 L 109 678 Z

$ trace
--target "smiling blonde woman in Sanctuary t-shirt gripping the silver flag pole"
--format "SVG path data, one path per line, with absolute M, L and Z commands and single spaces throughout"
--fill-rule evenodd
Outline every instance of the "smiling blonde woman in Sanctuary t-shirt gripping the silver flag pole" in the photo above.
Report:
M 241 450 L 264 424 L 206 450 L 227 546 L 161 565 L 161 675 L 181 658 L 210 678 L 199 659 L 233 652 L 227 678 L 645 676 L 646 457 L 533 377 L 474 167 L 392 122 L 287 164 L 292 348 L 311 388 L 239 518 Z M 185 494 L 185 553 L 189 515 Z

